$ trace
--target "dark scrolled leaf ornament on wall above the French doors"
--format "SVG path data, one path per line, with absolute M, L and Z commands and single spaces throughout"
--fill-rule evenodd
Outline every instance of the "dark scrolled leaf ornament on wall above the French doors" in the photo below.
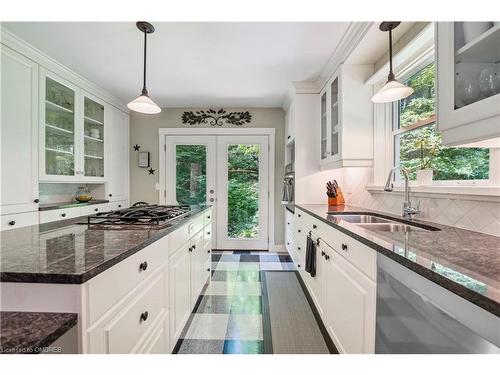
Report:
M 209 124 L 210 126 L 222 126 L 224 124 L 242 126 L 252 121 L 250 112 L 229 112 L 225 109 L 207 109 L 200 111 L 185 111 L 182 114 L 182 123 L 189 125 Z

